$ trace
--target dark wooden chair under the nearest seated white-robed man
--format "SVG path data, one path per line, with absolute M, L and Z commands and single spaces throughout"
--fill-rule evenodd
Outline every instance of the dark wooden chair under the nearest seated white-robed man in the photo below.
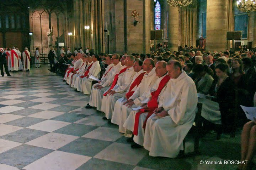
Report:
M 200 154 L 199 151 L 199 139 L 202 137 L 202 117 L 201 117 L 201 112 L 202 112 L 202 103 L 197 103 L 197 108 L 198 111 L 196 112 L 196 117 L 194 119 L 194 124 L 190 131 L 188 132 L 187 136 L 183 140 L 183 151 L 180 151 L 180 154 L 178 157 L 189 157 L 189 156 L 194 156 Z M 194 137 L 194 151 L 185 153 L 185 143 L 186 143 L 186 138 L 188 135 L 193 134 Z

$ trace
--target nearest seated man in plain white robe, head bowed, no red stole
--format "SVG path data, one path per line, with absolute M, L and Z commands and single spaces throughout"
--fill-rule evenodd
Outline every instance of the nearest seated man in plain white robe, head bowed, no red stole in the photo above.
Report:
M 194 122 L 197 90 L 178 61 L 169 61 L 167 70 L 171 79 L 156 114 L 146 123 L 143 145 L 150 156 L 175 158 L 183 150 L 183 140 Z

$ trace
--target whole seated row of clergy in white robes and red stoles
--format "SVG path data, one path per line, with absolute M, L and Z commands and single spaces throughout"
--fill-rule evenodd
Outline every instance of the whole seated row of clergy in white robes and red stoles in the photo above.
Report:
M 98 81 L 100 66 L 95 55 L 75 58 L 64 80 L 90 94 L 86 108 L 106 114 L 103 119 L 119 125 L 132 148 L 144 147 L 151 156 L 176 157 L 193 125 L 197 90 L 177 60 L 144 61 L 132 55 L 108 55 L 108 67 Z M 91 87 L 92 86 L 92 87 Z

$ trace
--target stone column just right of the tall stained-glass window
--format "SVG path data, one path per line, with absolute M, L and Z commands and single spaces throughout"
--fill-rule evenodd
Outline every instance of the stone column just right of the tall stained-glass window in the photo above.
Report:
M 173 52 L 178 50 L 179 12 L 178 8 L 172 6 L 169 6 L 168 10 L 168 49 Z

